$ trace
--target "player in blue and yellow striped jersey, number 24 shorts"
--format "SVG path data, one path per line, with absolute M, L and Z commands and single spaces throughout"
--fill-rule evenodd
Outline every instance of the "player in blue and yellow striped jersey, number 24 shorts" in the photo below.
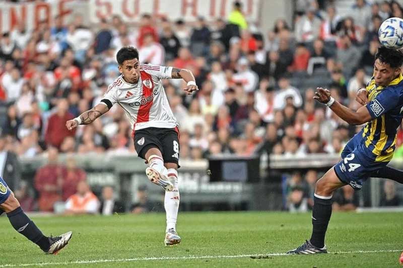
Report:
M 403 183 L 403 172 L 387 166 L 396 146 L 396 129 L 403 119 L 403 54 L 379 47 L 375 54 L 374 75 L 357 101 L 363 106 L 352 111 L 335 101 L 330 92 L 317 88 L 314 97 L 341 119 L 365 126 L 345 146 L 342 160 L 316 183 L 312 209 L 312 235 L 289 254 L 327 253 L 324 238 L 331 216 L 333 192 L 345 185 L 360 190 L 369 177 L 389 178 Z

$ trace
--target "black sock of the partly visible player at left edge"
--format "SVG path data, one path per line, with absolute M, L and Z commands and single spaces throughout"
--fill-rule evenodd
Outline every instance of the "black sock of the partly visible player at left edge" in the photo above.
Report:
M 38 227 L 36 227 L 35 223 L 28 218 L 21 207 L 7 213 L 7 217 L 17 232 L 37 244 L 42 250 L 46 251 L 49 248 L 49 239 L 44 236 Z

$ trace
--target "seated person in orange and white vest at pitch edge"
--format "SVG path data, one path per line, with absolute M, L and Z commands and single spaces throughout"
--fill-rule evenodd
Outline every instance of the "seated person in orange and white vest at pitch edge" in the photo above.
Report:
M 65 215 L 97 214 L 99 211 L 99 200 L 91 191 L 86 181 L 77 185 L 76 194 L 70 196 L 65 203 Z

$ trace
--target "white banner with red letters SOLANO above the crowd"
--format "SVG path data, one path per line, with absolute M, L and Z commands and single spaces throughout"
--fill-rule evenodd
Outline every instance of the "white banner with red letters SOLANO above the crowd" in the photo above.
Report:
M 125 22 L 138 22 L 143 14 L 166 16 L 170 20 L 194 21 L 203 16 L 211 21 L 226 19 L 233 9 L 233 0 L 90 0 L 90 21 L 121 16 Z M 258 23 L 260 0 L 243 0 L 243 12 L 248 22 Z

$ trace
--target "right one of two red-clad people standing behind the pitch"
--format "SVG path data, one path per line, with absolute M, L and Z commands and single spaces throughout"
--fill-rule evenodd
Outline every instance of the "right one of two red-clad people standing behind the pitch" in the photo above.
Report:
M 80 182 L 85 181 L 87 178 L 87 173 L 83 169 L 77 167 L 76 160 L 72 156 L 69 156 L 66 159 L 66 167 L 67 169 L 63 178 L 62 187 L 62 198 L 64 202 L 76 193 L 77 185 Z

